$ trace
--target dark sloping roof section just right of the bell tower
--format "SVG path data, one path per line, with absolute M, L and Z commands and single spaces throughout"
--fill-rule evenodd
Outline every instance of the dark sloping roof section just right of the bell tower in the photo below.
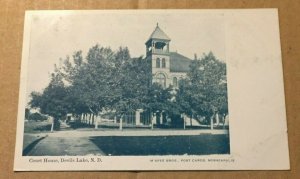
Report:
M 188 72 L 191 62 L 191 59 L 177 52 L 170 52 L 170 72 Z

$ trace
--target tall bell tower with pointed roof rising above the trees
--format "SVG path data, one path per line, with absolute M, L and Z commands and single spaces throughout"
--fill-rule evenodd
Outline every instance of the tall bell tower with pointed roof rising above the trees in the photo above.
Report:
M 158 23 L 156 28 L 146 41 L 146 59 L 151 62 L 153 83 L 160 84 L 163 88 L 169 86 L 170 82 L 170 52 L 171 39 L 160 29 Z

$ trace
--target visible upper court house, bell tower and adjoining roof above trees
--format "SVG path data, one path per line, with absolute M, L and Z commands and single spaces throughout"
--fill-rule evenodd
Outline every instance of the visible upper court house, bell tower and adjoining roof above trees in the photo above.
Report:
M 170 52 L 171 39 L 156 26 L 146 41 L 146 60 L 151 62 L 152 83 L 158 83 L 167 88 L 178 87 L 178 81 L 185 78 L 189 71 L 191 59 L 177 53 Z

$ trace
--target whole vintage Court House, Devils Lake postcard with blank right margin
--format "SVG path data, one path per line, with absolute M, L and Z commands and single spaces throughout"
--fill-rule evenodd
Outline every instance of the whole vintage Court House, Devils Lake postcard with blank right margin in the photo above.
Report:
M 15 171 L 288 170 L 277 9 L 25 14 Z

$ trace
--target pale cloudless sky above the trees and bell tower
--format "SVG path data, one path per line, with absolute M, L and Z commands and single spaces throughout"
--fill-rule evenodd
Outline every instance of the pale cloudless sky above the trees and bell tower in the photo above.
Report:
M 171 38 L 170 51 L 194 59 L 212 51 L 225 61 L 222 13 L 206 11 L 40 11 L 29 31 L 27 95 L 41 92 L 54 64 L 74 51 L 85 56 L 96 44 L 117 50 L 128 47 L 132 57 L 145 56 L 145 42 L 156 24 Z M 25 34 L 26 35 L 26 34 Z

